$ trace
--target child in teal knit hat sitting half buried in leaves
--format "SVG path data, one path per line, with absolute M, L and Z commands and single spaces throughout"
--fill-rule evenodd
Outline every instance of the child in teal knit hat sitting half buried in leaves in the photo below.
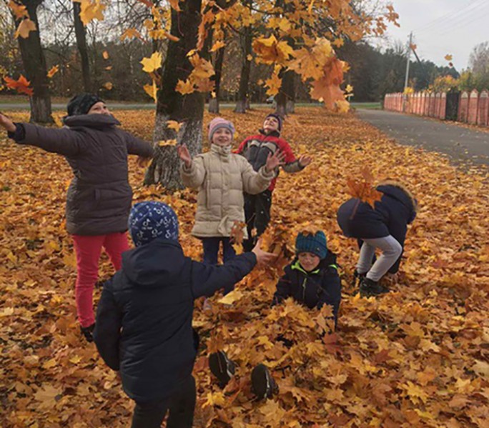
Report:
M 285 267 L 285 275 L 277 284 L 272 304 L 293 297 L 308 308 L 321 308 L 329 304 L 332 308 L 335 326 L 341 301 L 341 280 L 337 273 L 336 256 L 328 251 L 326 236 L 322 231 L 315 234 L 302 232 L 295 241 L 297 257 Z M 287 339 L 279 338 L 287 344 Z M 218 351 L 209 355 L 209 369 L 225 387 L 234 376 L 236 363 L 226 352 Z M 257 399 L 267 399 L 278 392 L 278 386 L 265 364 L 258 364 L 251 374 L 252 390 Z

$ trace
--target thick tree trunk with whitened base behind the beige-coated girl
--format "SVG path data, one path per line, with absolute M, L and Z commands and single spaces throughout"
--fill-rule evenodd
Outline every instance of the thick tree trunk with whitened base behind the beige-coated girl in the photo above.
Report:
M 158 91 L 154 141 L 177 139 L 187 145 L 195 156 L 202 150 L 204 94 L 182 95 L 175 91 L 178 80 L 186 80 L 192 71 L 187 52 L 197 44 L 202 0 L 180 1 L 181 12 L 172 9 L 171 34 L 179 41 L 170 41 L 164 61 L 162 89 Z M 184 122 L 178 134 L 167 128 L 167 121 Z M 161 183 L 168 190 L 182 189 L 180 161 L 175 146 L 156 146 L 156 154 L 144 177 L 144 184 Z

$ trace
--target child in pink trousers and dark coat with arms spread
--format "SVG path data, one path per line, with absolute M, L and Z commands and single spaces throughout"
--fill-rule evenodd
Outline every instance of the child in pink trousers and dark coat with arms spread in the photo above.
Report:
M 92 294 L 102 247 L 115 270 L 121 267 L 122 252 L 129 249 L 126 231 L 132 189 L 127 156 L 151 157 L 153 148 L 119 129 L 119 121 L 97 95 L 76 95 L 67 110 L 62 129 L 14 124 L 2 114 L 0 125 L 16 143 L 61 154 L 73 169 L 74 178 L 66 195 L 66 230 L 76 253 L 76 312 L 81 332 L 92 342 Z

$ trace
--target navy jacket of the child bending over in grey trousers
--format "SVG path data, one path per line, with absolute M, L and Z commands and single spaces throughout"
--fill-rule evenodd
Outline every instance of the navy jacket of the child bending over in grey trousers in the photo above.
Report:
M 346 237 L 374 239 L 392 235 L 404 249 L 408 224 L 416 217 L 415 201 L 401 186 L 385 184 L 377 186 L 377 190 L 382 192 L 382 199 L 375 201 L 375 209 L 360 199 L 349 199 L 338 209 L 337 222 Z M 399 264 L 400 258 L 389 272 L 397 272 Z

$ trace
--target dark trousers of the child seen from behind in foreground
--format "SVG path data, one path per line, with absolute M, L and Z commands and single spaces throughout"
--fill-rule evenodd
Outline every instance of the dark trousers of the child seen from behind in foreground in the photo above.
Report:
M 167 412 L 167 428 L 192 428 L 196 399 L 195 379 L 189 376 L 172 397 L 156 402 L 136 402 L 131 428 L 159 428 Z

